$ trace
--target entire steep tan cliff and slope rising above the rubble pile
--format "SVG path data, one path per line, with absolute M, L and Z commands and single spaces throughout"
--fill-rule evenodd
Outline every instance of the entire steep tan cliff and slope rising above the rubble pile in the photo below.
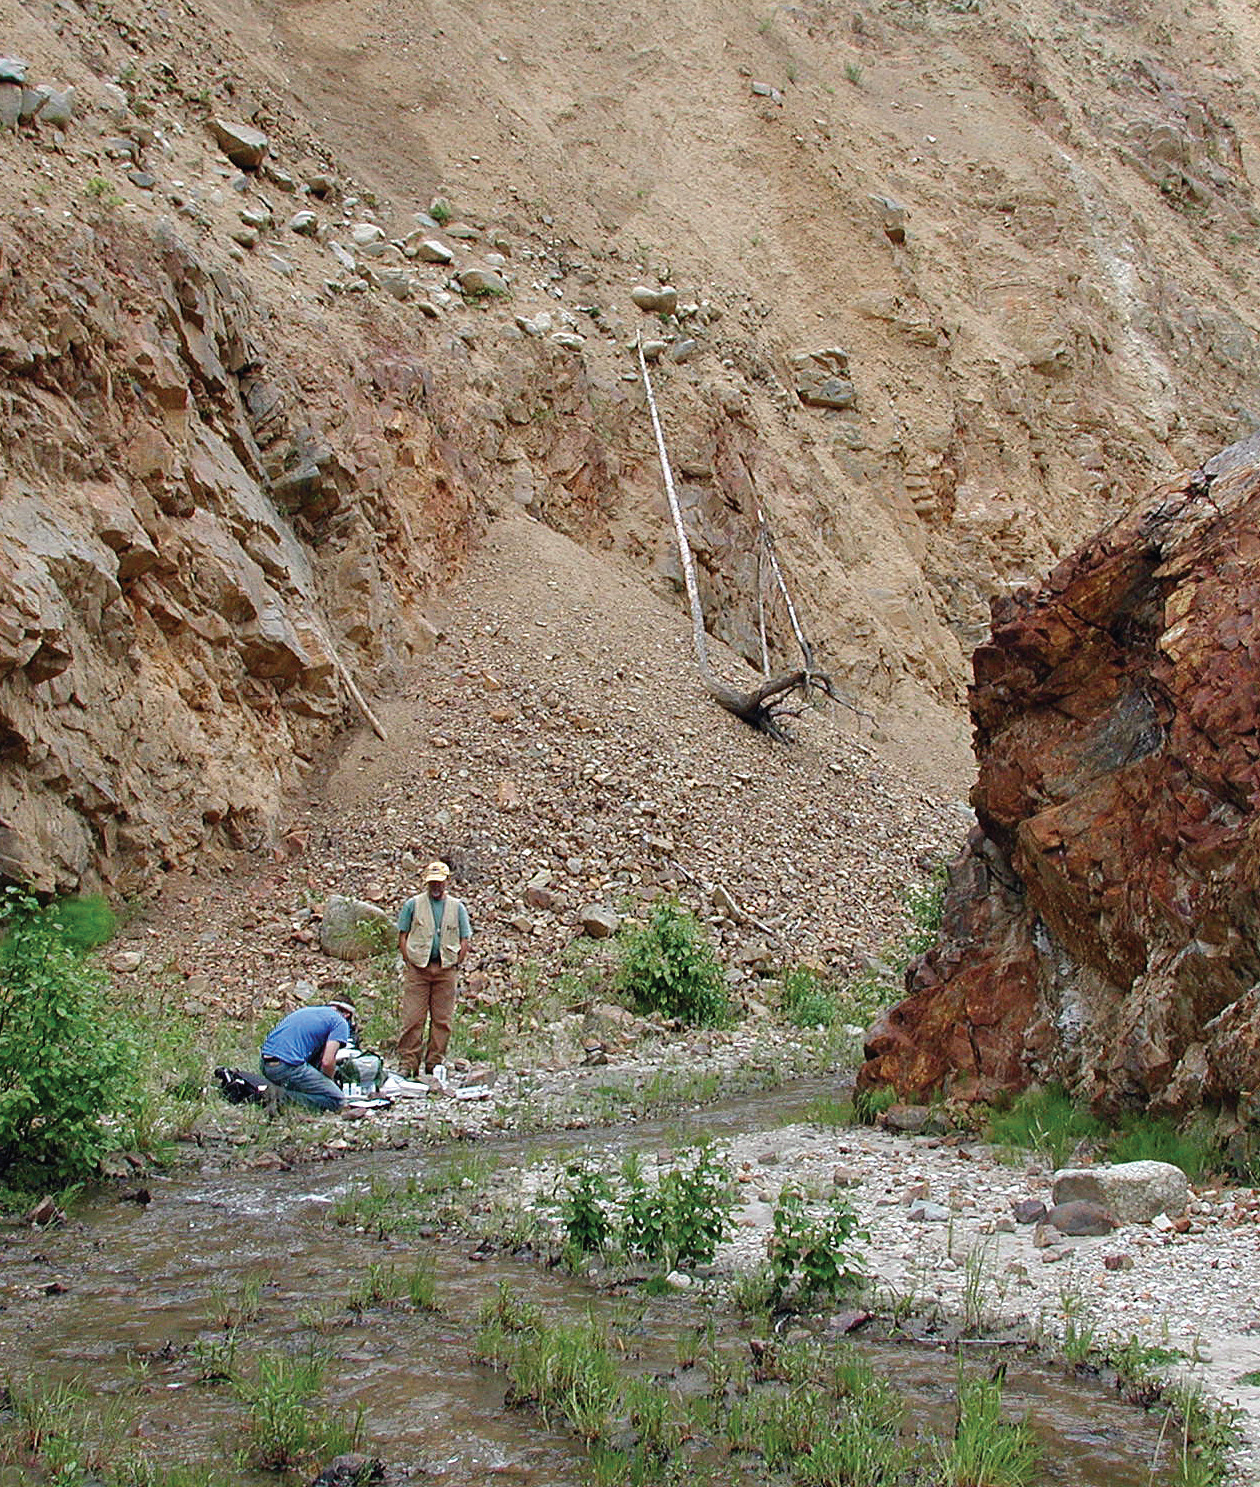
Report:
M 1254 18 L 0 0 L 0 873 L 269 840 L 497 512 L 957 782 L 992 593 L 1256 425 Z M 747 675 L 732 680 L 748 681 Z

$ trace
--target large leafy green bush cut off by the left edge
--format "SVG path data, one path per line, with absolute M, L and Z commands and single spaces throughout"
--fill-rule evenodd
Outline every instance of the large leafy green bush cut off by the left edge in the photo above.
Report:
M 0 897 L 0 1175 L 15 1187 L 91 1175 L 126 1105 L 134 1047 L 85 959 L 104 931 L 100 906 Z

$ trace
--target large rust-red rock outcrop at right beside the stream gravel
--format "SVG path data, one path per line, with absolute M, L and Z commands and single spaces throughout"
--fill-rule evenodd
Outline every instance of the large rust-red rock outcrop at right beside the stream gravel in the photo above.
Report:
M 992 605 L 979 828 L 863 1086 L 1098 1108 L 1260 1087 L 1260 437 Z

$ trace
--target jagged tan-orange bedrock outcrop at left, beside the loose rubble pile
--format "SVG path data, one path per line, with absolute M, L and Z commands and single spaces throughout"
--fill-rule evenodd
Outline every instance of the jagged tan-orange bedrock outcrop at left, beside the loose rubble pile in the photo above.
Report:
M 0 251 L 0 873 L 129 891 L 268 837 L 342 668 L 424 645 L 406 601 L 467 543 L 469 483 L 415 358 L 308 391 L 174 236 Z

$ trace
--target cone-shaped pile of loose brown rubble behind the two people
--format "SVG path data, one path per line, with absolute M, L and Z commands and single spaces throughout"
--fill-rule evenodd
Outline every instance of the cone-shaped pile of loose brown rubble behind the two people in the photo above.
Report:
M 756 1010 L 784 965 L 876 962 L 968 815 L 832 703 L 793 723 L 793 748 L 723 714 L 677 611 L 519 515 L 491 526 L 381 721 L 388 741 L 360 729 L 289 801 L 280 846 L 171 876 L 125 929 L 122 953 L 143 956 L 126 974 L 168 972 L 189 1013 L 251 1019 L 302 981 L 375 1004 L 390 990 L 369 967 L 320 953 L 326 897 L 394 912 L 442 855 L 475 922 L 475 996 L 500 1001 L 530 967 L 552 986 L 588 904 L 671 895 Z

